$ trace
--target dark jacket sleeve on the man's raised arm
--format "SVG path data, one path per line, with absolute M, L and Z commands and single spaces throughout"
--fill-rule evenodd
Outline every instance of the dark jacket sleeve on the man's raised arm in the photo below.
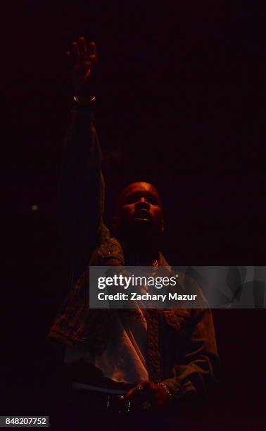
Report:
M 109 237 L 103 224 L 104 181 L 92 107 L 75 107 L 65 137 L 59 213 L 73 261 Z

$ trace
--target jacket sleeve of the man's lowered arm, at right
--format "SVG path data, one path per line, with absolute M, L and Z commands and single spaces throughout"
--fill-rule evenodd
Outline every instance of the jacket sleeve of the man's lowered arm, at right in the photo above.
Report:
M 186 342 L 173 377 L 164 380 L 175 399 L 204 394 L 215 383 L 220 369 L 213 317 L 209 308 L 191 310 Z

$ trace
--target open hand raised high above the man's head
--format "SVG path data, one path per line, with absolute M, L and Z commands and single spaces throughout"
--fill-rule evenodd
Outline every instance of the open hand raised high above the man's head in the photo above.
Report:
M 80 37 L 78 42 L 72 43 L 71 51 L 67 52 L 70 75 L 77 96 L 86 97 L 93 94 L 92 81 L 97 59 L 94 42 L 89 45 L 89 51 L 84 37 Z

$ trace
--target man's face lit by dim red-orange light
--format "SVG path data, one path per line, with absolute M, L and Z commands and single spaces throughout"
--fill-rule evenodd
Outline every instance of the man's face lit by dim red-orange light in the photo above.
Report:
M 163 232 L 163 208 L 160 196 L 148 182 L 134 182 L 118 199 L 118 227 L 139 227 Z

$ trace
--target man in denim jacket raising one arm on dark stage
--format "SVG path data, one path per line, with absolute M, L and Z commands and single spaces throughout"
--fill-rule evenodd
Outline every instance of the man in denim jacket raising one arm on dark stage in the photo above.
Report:
M 208 308 L 136 313 L 86 306 L 89 266 L 169 264 L 160 252 L 163 207 L 153 185 L 134 182 L 122 191 L 112 237 L 103 224 L 104 183 L 93 123 L 95 44 L 89 53 L 80 38 L 68 59 L 75 108 L 63 159 L 61 215 L 72 251 L 72 287 L 49 339 L 67 346 L 73 380 L 86 381 L 90 392 L 121 389 L 122 400 L 139 410 L 175 406 L 205 393 L 215 380 L 219 360 L 212 316 Z M 179 281 L 197 289 L 193 280 Z

